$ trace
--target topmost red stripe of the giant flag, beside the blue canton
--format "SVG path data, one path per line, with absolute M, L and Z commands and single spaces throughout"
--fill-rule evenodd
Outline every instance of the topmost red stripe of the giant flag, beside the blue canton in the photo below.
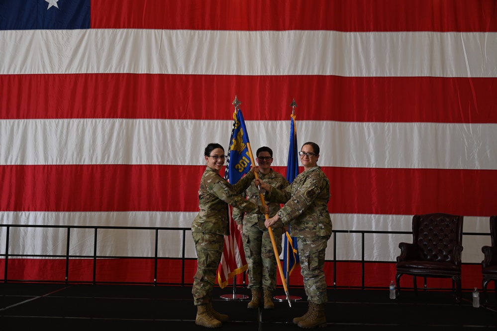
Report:
M 91 9 L 92 28 L 497 31 L 493 0 L 92 0 Z

